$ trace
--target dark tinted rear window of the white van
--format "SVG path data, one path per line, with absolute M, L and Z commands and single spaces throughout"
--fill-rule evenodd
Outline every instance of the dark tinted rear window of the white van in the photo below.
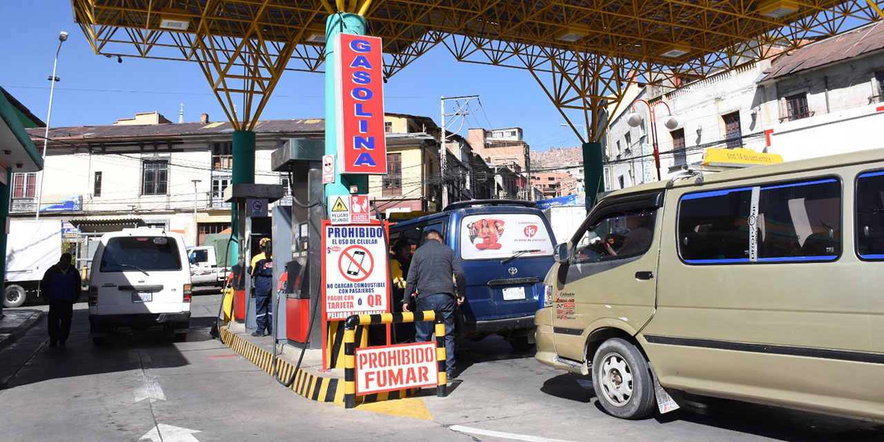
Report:
M 158 236 L 111 238 L 104 246 L 100 271 L 179 271 L 175 240 Z

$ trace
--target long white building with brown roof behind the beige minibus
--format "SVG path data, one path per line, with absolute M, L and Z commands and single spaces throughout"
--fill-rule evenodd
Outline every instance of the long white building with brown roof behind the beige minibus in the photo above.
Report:
M 651 118 L 638 98 L 656 110 L 663 179 L 701 162 L 709 148 L 753 149 L 789 161 L 880 147 L 872 128 L 884 125 L 881 49 L 884 24 L 878 23 L 679 88 L 632 85 L 636 98 L 613 114 L 607 132 L 611 188 L 657 179 Z M 663 125 L 661 103 L 676 115 L 674 129 Z M 643 120 L 636 127 L 626 121 L 633 109 Z

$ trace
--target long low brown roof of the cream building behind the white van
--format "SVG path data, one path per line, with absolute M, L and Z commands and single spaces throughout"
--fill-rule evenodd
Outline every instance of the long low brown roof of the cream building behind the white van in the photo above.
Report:
M 42 140 L 43 128 L 28 129 L 33 139 Z M 255 133 L 323 133 L 324 118 L 269 119 L 258 122 Z M 178 137 L 232 133 L 228 122 L 172 123 L 163 125 L 108 125 L 71 126 L 50 128 L 50 140 L 130 138 L 130 137 Z

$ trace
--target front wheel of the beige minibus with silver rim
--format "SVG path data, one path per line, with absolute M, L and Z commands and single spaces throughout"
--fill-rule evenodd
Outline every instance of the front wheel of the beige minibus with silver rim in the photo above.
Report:
M 608 382 L 603 382 L 606 378 Z M 636 346 L 624 339 L 607 339 L 598 347 L 592 358 L 592 387 L 598 404 L 609 415 L 641 419 L 653 410 L 654 388 L 648 362 Z

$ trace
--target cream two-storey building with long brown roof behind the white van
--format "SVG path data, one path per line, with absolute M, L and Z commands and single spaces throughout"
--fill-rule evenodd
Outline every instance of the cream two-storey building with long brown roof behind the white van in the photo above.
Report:
M 162 227 L 183 233 L 188 244 L 229 227 L 223 192 L 231 182 L 232 126 L 210 122 L 205 114 L 199 123 L 184 124 L 156 116 L 158 124 L 51 128 L 42 217 L 70 221 L 81 232 Z M 42 142 L 42 129 L 27 132 Z M 255 133 L 255 182 L 287 189 L 288 177 L 271 171 L 271 153 L 289 138 L 322 138 L 324 121 L 267 120 Z M 24 185 L 12 194 L 12 217 L 34 215 L 40 191 L 31 184 L 35 179 L 16 177 Z

